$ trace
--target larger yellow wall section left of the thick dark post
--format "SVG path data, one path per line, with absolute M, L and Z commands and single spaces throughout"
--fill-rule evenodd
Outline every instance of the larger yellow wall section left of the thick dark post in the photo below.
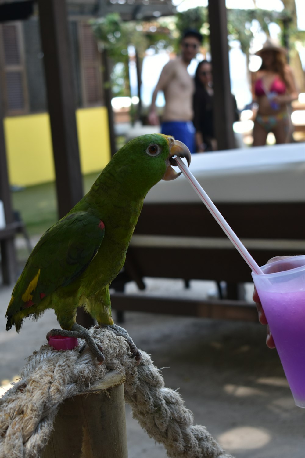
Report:
M 5 118 L 4 129 L 10 183 L 25 186 L 54 180 L 48 114 Z

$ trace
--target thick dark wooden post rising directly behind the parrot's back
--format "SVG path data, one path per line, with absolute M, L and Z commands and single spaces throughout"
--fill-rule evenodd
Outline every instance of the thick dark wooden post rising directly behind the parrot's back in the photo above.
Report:
M 83 196 L 65 4 L 38 0 L 60 218 Z

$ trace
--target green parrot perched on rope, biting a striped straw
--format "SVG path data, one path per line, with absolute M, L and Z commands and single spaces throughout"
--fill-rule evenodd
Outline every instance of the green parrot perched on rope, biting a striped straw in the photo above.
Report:
M 123 267 L 147 192 L 161 179 L 180 175 L 171 168 L 176 155 L 187 158 L 189 166 L 191 154 L 182 142 L 151 134 L 131 140 L 112 157 L 86 196 L 33 249 L 13 289 L 6 330 L 15 325 L 20 332 L 23 318 L 37 320 L 54 309 L 62 329 L 53 329 L 47 338 L 84 338 L 102 363 L 102 348 L 76 323 L 76 309 L 84 307 L 99 326 L 123 335 L 139 362 L 127 331 L 113 323 L 109 284 Z

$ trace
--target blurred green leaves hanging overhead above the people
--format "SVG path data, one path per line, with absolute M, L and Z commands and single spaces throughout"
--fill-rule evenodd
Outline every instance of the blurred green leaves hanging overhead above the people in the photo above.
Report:
M 240 41 L 242 51 L 248 54 L 255 33 L 262 31 L 269 35 L 268 27 L 272 22 L 278 24 L 283 31 L 284 23 L 287 25 L 289 17 L 286 10 L 278 13 L 258 8 L 228 9 L 228 38 Z M 209 12 L 203 6 L 151 22 L 123 21 L 119 13 L 111 13 L 90 23 L 99 44 L 116 61 L 127 58 L 129 44 L 133 44 L 142 56 L 148 48 L 154 48 L 158 52 L 171 46 L 177 50 L 181 35 L 188 28 L 199 30 L 203 34 L 203 45 L 209 48 Z M 293 24 L 289 27 L 293 28 Z M 290 30 L 289 35 L 293 35 L 293 30 Z

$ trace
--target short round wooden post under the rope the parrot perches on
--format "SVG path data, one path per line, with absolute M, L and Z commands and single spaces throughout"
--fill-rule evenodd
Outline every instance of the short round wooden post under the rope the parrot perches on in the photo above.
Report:
M 127 458 L 124 376 L 110 371 L 90 390 L 64 401 L 42 458 Z

